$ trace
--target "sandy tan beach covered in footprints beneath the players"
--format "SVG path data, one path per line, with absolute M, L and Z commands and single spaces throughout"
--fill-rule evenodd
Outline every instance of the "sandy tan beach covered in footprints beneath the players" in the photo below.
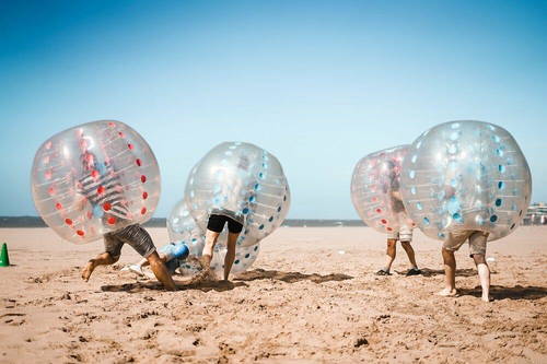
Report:
M 150 228 L 156 246 L 165 228 Z M 547 363 L 546 227 L 493 242 L 490 304 L 467 246 L 456 255 L 458 297 L 442 289 L 440 243 L 416 234 L 427 274 L 405 277 L 397 247 L 366 227 L 282 227 L 231 283 L 177 292 L 114 267 L 80 278 L 102 243 L 62 242 L 47 228 L 3 228 L 12 267 L 0 268 L 1 363 L 423 362 Z

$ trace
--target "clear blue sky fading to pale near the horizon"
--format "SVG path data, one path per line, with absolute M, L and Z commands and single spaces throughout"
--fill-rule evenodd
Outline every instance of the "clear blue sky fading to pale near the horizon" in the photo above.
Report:
M 162 171 L 156 216 L 221 141 L 267 149 L 289 218 L 359 219 L 357 161 L 447 120 L 508 129 L 547 201 L 546 1 L 0 1 L 0 215 L 35 215 L 34 153 L 117 119 Z

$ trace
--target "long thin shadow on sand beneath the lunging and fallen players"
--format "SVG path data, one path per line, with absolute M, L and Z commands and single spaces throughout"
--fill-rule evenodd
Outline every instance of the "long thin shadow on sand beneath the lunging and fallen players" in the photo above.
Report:
M 217 291 L 224 292 L 231 291 L 238 286 L 248 286 L 244 282 L 230 282 L 230 281 L 205 281 L 194 284 L 184 284 L 175 280 L 175 284 L 178 291 L 186 290 L 200 290 L 202 292 Z M 159 282 L 136 282 L 126 284 L 109 284 L 103 285 L 101 291 L 103 292 L 127 292 L 127 293 L 138 293 L 143 291 L 165 291 L 163 285 Z

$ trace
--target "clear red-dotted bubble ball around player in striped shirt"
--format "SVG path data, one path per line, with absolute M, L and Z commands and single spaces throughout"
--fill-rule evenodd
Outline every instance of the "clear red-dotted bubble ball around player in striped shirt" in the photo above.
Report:
M 119 121 L 93 121 L 49 138 L 32 169 L 32 193 L 46 224 L 88 243 L 152 216 L 160 169 L 141 136 Z

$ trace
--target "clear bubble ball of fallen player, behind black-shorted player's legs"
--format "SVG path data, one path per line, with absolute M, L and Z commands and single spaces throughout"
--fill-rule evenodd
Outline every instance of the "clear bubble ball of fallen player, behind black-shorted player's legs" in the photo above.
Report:
M 172 242 L 186 244 L 190 250 L 190 256 L 200 257 L 205 246 L 205 232 L 196 224 L 196 221 L 190 214 L 186 202 L 179 201 L 172 210 L 167 219 L 167 231 Z M 226 233 L 225 230 L 219 236 L 214 246 L 213 260 L 211 269 L 221 277 L 224 272 L 224 257 L 226 255 Z M 237 246 L 235 249 L 235 260 L 232 266 L 232 273 L 238 273 L 247 270 L 248 267 L 258 257 L 260 245 L 244 247 Z M 200 267 L 191 263 L 191 261 L 183 260 L 179 262 L 179 268 L 183 274 L 194 274 Z

